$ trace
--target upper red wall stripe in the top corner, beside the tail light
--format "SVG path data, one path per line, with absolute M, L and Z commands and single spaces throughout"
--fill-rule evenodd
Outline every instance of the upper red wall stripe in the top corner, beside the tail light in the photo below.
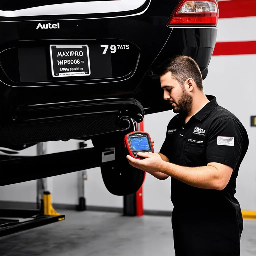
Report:
M 219 18 L 256 16 L 255 0 L 233 0 L 219 2 Z

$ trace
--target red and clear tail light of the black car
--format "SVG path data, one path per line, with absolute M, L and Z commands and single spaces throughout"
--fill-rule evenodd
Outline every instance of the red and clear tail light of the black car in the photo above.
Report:
M 211 26 L 218 23 L 219 9 L 216 0 L 188 1 L 182 0 L 167 26 Z

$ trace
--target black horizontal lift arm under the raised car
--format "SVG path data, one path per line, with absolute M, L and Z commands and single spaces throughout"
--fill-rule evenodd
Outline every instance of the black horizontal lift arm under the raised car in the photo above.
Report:
M 0 161 L 0 186 L 99 167 L 101 157 L 92 147 Z

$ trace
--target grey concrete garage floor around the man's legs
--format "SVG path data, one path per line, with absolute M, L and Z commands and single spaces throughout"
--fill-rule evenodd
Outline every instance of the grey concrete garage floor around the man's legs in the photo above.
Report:
M 0 238 L 1 256 L 173 256 L 170 217 L 61 210 L 66 220 Z M 256 255 L 256 221 L 244 220 L 241 256 Z

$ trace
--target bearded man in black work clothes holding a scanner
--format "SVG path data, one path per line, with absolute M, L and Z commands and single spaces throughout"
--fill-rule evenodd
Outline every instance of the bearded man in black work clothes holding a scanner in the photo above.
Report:
M 167 126 L 159 153 L 127 159 L 158 179 L 171 177 L 176 256 L 238 256 L 243 220 L 234 194 L 248 149 L 247 132 L 214 96 L 204 94 L 192 58 L 176 56 L 157 72 L 164 99 L 177 115 Z

